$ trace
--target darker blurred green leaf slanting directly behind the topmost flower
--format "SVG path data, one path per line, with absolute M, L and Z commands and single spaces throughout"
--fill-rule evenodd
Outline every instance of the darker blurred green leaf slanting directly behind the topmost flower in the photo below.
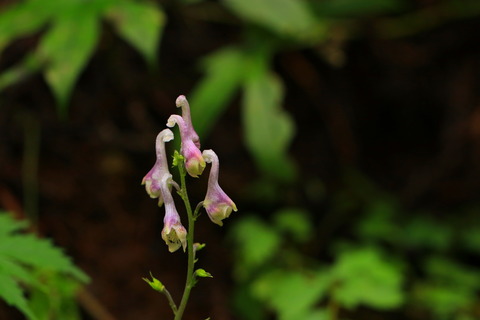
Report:
M 206 75 L 191 94 L 192 121 L 205 136 L 241 86 L 246 73 L 246 57 L 236 48 L 215 52 L 203 60 Z

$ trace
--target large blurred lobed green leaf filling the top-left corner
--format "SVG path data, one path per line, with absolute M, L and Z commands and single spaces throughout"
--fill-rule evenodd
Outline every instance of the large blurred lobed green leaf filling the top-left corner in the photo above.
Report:
M 0 90 L 41 71 L 52 89 L 59 112 L 66 114 L 77 78 L 97 47 L 101 21 L 153 64 L 165 15 L 159 7 L 128 0 L 26 0 L 0 13 L 0 53 L 13 40 L 42 32 L 41 40 L 18 65 L 0 75 Z M 46 29 L 46 31 L 44 31 Z

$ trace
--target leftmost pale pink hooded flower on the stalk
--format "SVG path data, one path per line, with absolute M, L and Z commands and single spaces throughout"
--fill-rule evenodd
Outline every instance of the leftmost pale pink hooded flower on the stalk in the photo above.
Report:
M 158 198 L 158 206 L 163 205 L 163 196 L 160 191 L 160 185 L 162 178 L 167 174 L 170 175 L 168 171 L 167 156 L 165 153 L 165 142 L 173 140 L 173 132 L 170 129 L 162 130 L 158 136 L 155 143 L 157 160 L 153 165 L 153 168 L 145 175 L 142 180 L 142 185 L 145 185 L 145 190 L 147 191 L 150 198 Z M 169 190 L 171 186 L 169 186 Z

